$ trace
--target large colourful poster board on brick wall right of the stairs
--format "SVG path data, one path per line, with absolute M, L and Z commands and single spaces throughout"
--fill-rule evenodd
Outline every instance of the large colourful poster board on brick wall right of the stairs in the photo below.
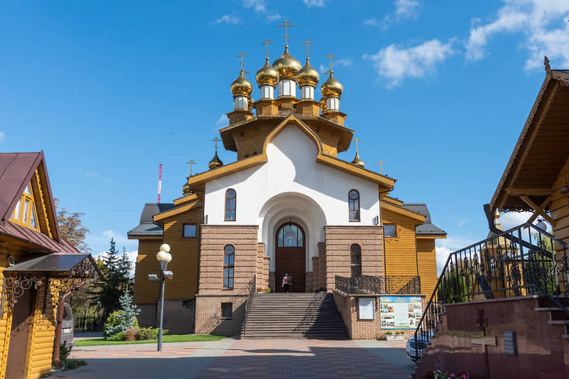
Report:
M 381 329 L 415 329 L 422 314 L 419 296 L 382 296 L 379 299 Z

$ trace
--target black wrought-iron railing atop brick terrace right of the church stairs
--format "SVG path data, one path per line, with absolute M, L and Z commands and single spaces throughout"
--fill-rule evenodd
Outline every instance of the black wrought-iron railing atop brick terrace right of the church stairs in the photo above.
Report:
M 420 277 L 341 277 L 336 275 L 336 289 L 351 294 L 418 294 Z

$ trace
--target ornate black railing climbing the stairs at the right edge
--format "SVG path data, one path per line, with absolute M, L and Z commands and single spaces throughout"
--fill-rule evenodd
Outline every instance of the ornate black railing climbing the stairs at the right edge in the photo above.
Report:
M 569 314 L 559 301 L 569 296 L 569 245 L 525 223 L 448 256 L 415 330 L 415 360 L 422 358 L 441 323 L 445 304 L 541 295 Z

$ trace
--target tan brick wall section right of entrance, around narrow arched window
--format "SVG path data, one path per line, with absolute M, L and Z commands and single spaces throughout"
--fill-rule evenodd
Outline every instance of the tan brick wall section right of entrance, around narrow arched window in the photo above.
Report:
M 350 277 L 350 246 L 362 249 L 362 274 L 383 276 L 383 226 L 325 226 L 325 266 L 320 286 L 332 291 L 335 276 Z M 320 254 L 320 244 L 318 245 Z M 321 263 L 322 261 L 320 261 Z

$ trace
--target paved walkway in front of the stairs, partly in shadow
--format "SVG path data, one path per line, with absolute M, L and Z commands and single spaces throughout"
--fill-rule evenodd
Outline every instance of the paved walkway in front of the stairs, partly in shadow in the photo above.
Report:
M 55 378 L 408 378 L 404 343 L 316 339 L 235 339 L 76 347 L 89 364 Z

